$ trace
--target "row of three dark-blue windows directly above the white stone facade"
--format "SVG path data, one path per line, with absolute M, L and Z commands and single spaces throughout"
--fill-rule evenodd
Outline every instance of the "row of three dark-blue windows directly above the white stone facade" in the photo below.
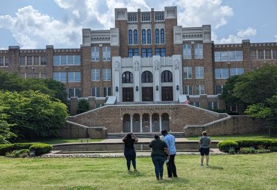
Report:
M 155 48 L 155 55 L 166 57 L 165 48 Z M 128 49 L 128 57 L 139 56 L 139 49 Z M 152 49 L 141 49 L 141 57 L 152 57 Z

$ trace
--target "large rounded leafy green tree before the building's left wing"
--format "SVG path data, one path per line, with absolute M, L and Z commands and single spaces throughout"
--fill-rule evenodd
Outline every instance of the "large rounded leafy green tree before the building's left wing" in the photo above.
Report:
M 19 137 L 56 137 L 65 126 L 67 107 L 41 92 L 0 92 L 0 107 Z M 11 108 L 11 109 L 10 109 Z

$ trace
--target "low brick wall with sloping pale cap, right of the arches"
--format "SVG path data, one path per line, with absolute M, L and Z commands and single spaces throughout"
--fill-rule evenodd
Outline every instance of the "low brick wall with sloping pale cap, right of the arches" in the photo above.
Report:
M 185 137 L 201 136 L 204 130 L 208 132 L 208 136 L 237 135 L 265 131 L 264 123 L 262 119 L 249 116 L 229 116 L 204 125 L 187 125 L 184 131 Z

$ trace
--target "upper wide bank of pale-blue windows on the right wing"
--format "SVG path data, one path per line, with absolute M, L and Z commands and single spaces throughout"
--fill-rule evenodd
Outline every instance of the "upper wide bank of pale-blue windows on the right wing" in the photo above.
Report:
M 215 62 L 243 61 L 242 51 L 215 51 Z

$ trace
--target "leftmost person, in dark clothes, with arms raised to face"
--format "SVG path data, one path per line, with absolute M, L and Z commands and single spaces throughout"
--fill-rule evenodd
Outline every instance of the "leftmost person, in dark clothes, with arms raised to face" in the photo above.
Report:
M 127 161 L 127 169 L 130 171 L 132 161 L 134 171 L 136 171 L 136 150 L 134 149 L 134 143 L 138 142 L 139 139 L 136 138 L 134 133 L 128 133 L 125 137 L 123 137 L 122 141 L 125 144 L 124 155 Z

